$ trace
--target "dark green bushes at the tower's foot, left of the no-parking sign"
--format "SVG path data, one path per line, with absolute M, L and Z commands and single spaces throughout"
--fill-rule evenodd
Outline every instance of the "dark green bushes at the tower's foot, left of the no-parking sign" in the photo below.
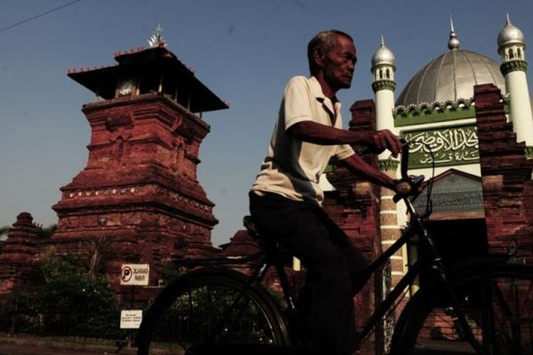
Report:
M 17 320 L 18 327 L 3 322 L 4 329 L 82 337 L 122 335 L 112 288 L 101 275 L 90 275 L 89 262 L 77 256 L 47 251 L 32 285 L 14 295 L 0 309 L 0 319 L 12 319 L 16 313 L 25 322 Z

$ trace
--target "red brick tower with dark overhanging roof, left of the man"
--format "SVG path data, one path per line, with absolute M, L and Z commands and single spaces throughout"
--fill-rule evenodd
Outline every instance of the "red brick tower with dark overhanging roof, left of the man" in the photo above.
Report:
M 59 253 L 87 254 L 103 236 L 112 283 L 121 263 L 139 262 L 156 271 L 154 285 L 166 262 L 212 251 L 217 219 L 196 177 L 198 152 L 210 131 L 202 113 L 227 104 L 161 40 L 114 59 L 117 65 L 68 73 L 96 99 L 82 108 L 92 131 L 87 166 L 60 189 L 52 244 Z

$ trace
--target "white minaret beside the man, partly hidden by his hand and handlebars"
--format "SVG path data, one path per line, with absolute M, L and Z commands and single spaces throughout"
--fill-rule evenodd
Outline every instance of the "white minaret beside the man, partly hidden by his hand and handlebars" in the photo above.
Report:
M 394 54 L 389 48 L 385 47 L 383 36 L 381 38 L 381 45 L 372 56 L 372 89 L 376 94 L 376 129 L 389 129 L 395 132 L 394 119 L 392 117 L 392 110 L 394 109 L 394 89 L 396 82 L 394 82 Z M 398 160 L 387 160 L 388 153 L 379 155 L 379 168 L 392 178 L 397 178 Z M 400 227 L 398 225 L 397 208 L 392 197 L 394 192 L 382 187 L 381 190 L 381 204 L 379 211 L 379 229 L 382 237 L 382 249 L 386 250 L 390 245 L 397 241 L 401 236 Z M 404 275 L 404 251 L 400 250 L 391 258 L 391 273 L 390 278 L 384 280 L 386 288 L 392 288 L 397 281 Z M 388 293 L 388 290 L 385 290 Z

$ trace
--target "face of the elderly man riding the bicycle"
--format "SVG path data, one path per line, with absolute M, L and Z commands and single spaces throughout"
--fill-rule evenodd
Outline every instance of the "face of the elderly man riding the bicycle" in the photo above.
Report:
M 324 79 L 333 90 L 348 89 L 351 86 L 355 62 L 355 45 L 350 38 L 337 35 L 337 45 L 325 53 L 323 60 Z

